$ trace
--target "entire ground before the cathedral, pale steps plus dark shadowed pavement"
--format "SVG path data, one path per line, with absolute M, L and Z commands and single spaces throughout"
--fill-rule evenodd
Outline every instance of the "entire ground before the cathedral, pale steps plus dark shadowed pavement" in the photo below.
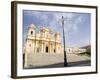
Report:
M 28 68 L 63 67 L 64 55 L 55 53 L 35 53 L 28 59 Z M 67 54 L 68 66 L 89 66 L 90 57 L 77 54 Z

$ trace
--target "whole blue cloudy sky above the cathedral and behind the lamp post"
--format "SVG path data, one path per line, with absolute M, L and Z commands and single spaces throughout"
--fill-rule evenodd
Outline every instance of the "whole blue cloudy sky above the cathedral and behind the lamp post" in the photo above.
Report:
M 91 14 L 76 12 L 52 12 L 23 10 L 23 40 L 26 39 L 30 24 L 36 26 L 38 32 L 41 26 L 60 32 L 62 40 L 61 17 L 65 19 L 65 41 L 68 47 L 81 47 L 90 44 Z

